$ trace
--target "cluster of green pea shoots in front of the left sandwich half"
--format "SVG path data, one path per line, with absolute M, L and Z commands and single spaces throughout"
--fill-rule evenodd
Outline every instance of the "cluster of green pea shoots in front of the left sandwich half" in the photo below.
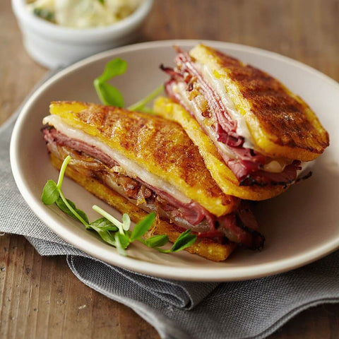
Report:
M 139 221 L 130 231 L 131 219 L 126 213 L 122 215 L 122 222 L 114 218 L 113 215 L 110 215 L 107 211 L 103 210 L 97 205 L 94 205 L 92 208 L 97 213 L 102 215 L 102 218 L 99 218 L 93 222 L 89 222 L 88 216 L 86 213 L 77 208 L 76 204 L 73 201 L 67 199 L 64 196 L 64 193 L 61 189 L 61 186 L 64 182 L 64 174 L 66 172 L 66 167 L 71 161 L 71 157 L 68 155 L 64 162 L 61 165 L 59 172 L 58 183 L 53 180 L 47 180 L 42 190 L 41 200 L 45 205 L 56 205 L 67 215 L 70 215 L 71 218 L 80 221 L 85 227 L 86 230 L 92 230 L 97 232 L 101 239 L 107 244 L 117 248 L 117 251 L 121 256 L 126 256 L 126 249 L 132 242 L 138 241 L 142 244 L 145 244 L 148 247 L 156 249 L 162 253 L 172 253 L 186 249 L 186 247 L 191 246 L 196 241 L 196 235 L 191 234 L 191 230 L 186 230 L 178 237 L 177 241 L 174 242 L 171 249 L 161 249 L 160 247 L 165 246 L 169 241 L 166 234 L 159 234 L 148 239 L 143 239 L 143 236 L 146 232 L 153 227 L 155 222 L 155 213 L 152 212 L 146 215 L 141 221 Z

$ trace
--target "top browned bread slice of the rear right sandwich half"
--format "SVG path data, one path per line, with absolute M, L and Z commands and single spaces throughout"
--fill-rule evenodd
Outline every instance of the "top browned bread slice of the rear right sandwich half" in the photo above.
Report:
M 263 154 L 310 161 L 328 146 L 328 133 L 307 103 L 268 73 L 203 44 L 189 54 L 224 83 Z

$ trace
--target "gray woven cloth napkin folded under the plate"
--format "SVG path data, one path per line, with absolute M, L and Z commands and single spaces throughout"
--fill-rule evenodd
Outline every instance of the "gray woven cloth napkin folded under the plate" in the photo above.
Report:
M 83 283 L 131 307 L 162 338 L 265 338 L 300 311 L 339 301 L 339 251 L 289 273 L 216 284 L 133 273 L 75 249 L 20 196 L 9 164 L 13 120 L 0 129 L 0 232 L 24 235 L 42 256 L 66 255 Z

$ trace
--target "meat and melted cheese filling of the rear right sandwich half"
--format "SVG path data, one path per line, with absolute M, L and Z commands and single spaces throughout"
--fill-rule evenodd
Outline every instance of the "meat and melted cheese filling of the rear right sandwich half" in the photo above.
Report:
M 272 159 L 256 145 L 242 114 L 227 95 L 225 85 L 206 65 L 177 49 L 176 67 L 161 66 L 169 74 L 167 95 L 182 105 L 210 137 L 240 185 L 287 185 L 302 170 L 299 160 Z

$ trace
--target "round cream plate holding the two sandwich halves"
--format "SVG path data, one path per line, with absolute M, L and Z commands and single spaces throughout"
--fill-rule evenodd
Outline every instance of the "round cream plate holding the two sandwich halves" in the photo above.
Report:
M 57 181 L 58 172 L 49 163 L 42 138 L 42 118 L 49 114 L 52 100 L 98 102 L 93 79 L 102 73 L 107 61 L 120 57 L 129 66 L 123 76 L 114 78 L 124 94 L 126 106 L 144 97 L 167 76 L 159 65 L 173 65 L 175 44 L 191 49 L 199 41 L 173 40 L 147 42 L 97 54 L 57 73 L 30 97 L 16 122 L 11 140 L 11 166 L 20 193 L 33 212 L 60 237 L 91 256 L 149 275 L 196 281 L 229 281 L 259 278 L 303 266 L 339 248 L 339 85 L 319 71 L 278 54 L 225 42 L 203 41 L 220 51 L 259 67 L 300 95 L 330 133 L 331 146 L 316 160 L 313 176 L 292 186 L 285 194 L 256 206 L 261 231 L 266 237 L 262 251 L 238 249 L 225 262 L 214 263 L 185 251 L 160 254 L 142 244 L 132 245 L 127 257 L 105 244 L 93 232 L 69 218 L 56 206 L 40 201 L 47 179 Z M 97 204 L 121 215 L 89 194 L 70 179 L 64 180 L 64 193 L 88 213 Z M 23 220 L 24 221 L 24 220 Z

